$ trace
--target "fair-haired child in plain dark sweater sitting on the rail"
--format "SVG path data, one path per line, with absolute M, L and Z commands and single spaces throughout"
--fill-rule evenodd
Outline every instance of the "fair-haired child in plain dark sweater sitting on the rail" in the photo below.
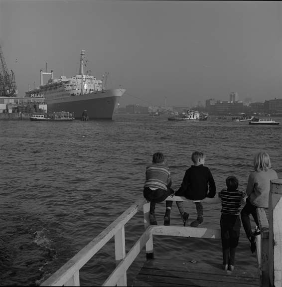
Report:
M 214 197 L 216 192 L 215 182 L 210 169 L 205 164 L 205 154 L 194 151 L 191 155 L 193 165 L 188 168 L 182 180 L 180 188 L 175 192 L 176 196 L 184 196 L 193 200 L 196 205 L 197 219 L 191 222 L 191 227 L 197 227 L 204 221 L 203 205 L 201 200 L 205 197 Z M 209 191 L 209 192 L 208 192 Z M 178 201 L 178 209 L 182 216 L 184 226 L 188 219 L 188 213 L 184 212 L 183 202 Z M 172 201 L 168 201 L 167 206 L 171 207 Z

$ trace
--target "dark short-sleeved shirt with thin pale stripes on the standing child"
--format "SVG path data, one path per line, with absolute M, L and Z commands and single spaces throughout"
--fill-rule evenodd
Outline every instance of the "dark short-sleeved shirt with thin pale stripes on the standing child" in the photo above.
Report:
M 219 193 L 219 197 L 221 197 L 221 213 L 229 215 L 240 214 L 240 207 L 244 196 L 245 194 L 239 190 L 230 191 L 222 189 Z

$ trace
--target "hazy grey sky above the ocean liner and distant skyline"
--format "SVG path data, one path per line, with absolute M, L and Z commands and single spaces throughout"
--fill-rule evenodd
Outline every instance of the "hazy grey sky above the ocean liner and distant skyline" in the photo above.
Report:
M 121 106 L 282 98 L 280 1 L 0 0 L 0 44 L 19 95 L 87 68 Z M 48 80 L 44 76 L 44 81 Z

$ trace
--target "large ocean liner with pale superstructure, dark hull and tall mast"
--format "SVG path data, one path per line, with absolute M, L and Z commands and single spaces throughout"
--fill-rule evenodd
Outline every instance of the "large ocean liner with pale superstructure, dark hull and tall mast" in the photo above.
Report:
M 80 118 L 83 112 L 87 111 L 89 119 L 113 119 L 117 103 L 126 90 L 121 88 L 105 90 L 106 80 L 85 75 L 84 55 L 85 50 L 82 50 L 79 75 L 54 79 L 53 71 L 48 73 L 40 70 L 40 87 L 25 92 L 25 96 L 44 98 L 48 111 L 74 112 L 76 118 Z M 46 84 L 43 84 L 44 74 L 51 75 Z

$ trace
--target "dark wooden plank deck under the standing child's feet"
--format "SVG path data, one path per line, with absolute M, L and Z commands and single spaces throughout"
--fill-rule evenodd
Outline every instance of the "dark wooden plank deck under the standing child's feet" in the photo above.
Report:
M 133 286 L 187 287 L 258 287 L 259 274 L 255 266 L 235 267 L 233 272 L 222 266 L 194 260 L 147 260 Z

